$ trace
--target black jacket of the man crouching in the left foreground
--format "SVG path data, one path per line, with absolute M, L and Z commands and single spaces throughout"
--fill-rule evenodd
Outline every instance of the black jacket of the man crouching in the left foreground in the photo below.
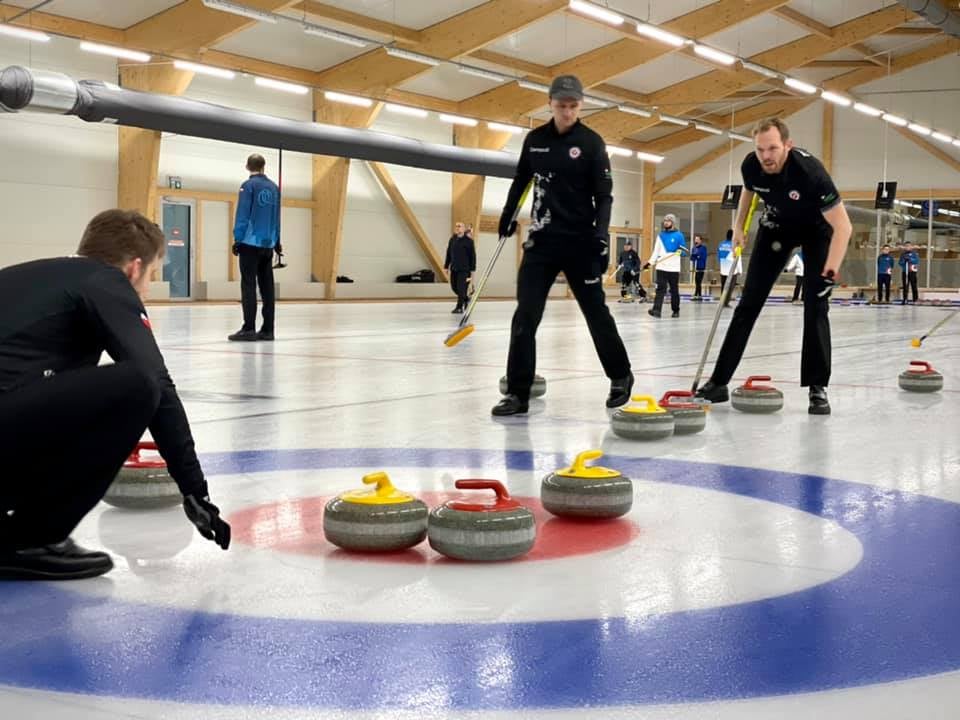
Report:
M 150 433 L 180 491 L 206 495 L 186 413 L 123 272 L 81 257 L 0 270 L 0 393 L 42 382 L 46 370 L 95 366 L 104 351 L 156 377 L 161 396 Z

